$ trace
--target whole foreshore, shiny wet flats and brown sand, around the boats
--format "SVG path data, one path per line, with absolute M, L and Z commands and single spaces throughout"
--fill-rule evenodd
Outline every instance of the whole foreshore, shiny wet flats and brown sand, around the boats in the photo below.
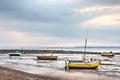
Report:
M 114 65 L 100 65 L 96 70 L 65 69 L 66 59 L 80 59 L 82 54 L 53 54 L 58 60 L 37 60 L 38 55 L 48 54 L 22 54 L 12 56 L 0 54 L 0 80 L 119 80 L 119 57 L 102 57 L 99 54 L 87 56 L 100 59 L 103 63 Z M 108 60 L 108 61 L 104 61 Z

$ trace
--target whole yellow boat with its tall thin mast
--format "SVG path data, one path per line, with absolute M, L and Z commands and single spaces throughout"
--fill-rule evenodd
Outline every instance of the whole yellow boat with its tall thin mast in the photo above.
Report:
M 66 60 L 65 61 L 65 68 L 67 69 L 96 69 L 100 62 L 96 59 L 89 58 L 85 56 L 86 52 L 86 45 L 87 45 L 87 35 L 85 39 L 85 48 L 84 48 L 84 55 L 82 60 Z

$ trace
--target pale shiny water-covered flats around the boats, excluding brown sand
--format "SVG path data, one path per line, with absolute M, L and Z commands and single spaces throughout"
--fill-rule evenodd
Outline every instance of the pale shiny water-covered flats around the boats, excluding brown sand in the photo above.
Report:
M 23 54 L 22 56 L 13 56 L 11 59 L 8 54 L 0 54 L 0 66 L 38 75 L 63 77 L 69 80 L 79 80 L 80 77 L 89 78 L 89 80 L 120 80 L 120 55 L 107 58 L 99 54 L 87 54 L 88 57 L 100 59 L 104 64 L 112 64 L 100 65 L 97 70 L 66 70 L 64 68 L 66 59 L 81 59 L 82 54 L 53 54 L 58 56 L 58 60 L 52 61 L 37 60 L 37 55 L 51 54 Z

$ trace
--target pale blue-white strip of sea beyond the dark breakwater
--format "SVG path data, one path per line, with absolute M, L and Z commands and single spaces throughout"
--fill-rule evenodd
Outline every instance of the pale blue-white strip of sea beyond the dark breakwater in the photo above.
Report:
M 76 47 L 49 47 L 49 46 L 0 46 L 0 49 L 22 49 L 22 50 L 65 50 L 65 51 L 84 51 L 84 46 Z M 116 53 L 120 52 L 120 46 L 87 46 L 86 51 L 88 52 L 109 52 L 113 51 Z

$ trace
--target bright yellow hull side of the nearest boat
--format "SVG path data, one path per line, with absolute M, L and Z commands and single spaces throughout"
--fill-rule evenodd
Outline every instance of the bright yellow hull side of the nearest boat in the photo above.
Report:
M 66 65 L 69 69 L 96 69 L 99 65 L 99 61 L 92 63 L 69 63 Z

